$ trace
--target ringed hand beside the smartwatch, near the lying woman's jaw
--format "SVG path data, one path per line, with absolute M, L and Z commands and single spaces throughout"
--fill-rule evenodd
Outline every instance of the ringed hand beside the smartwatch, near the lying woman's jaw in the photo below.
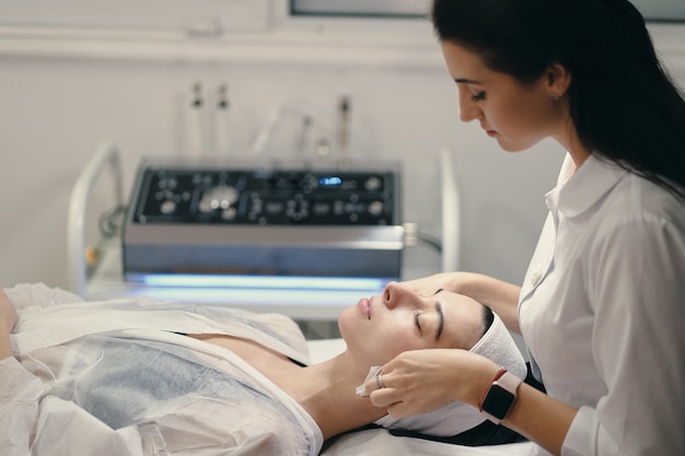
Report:
M 461 401 L 477 406 L 498 371 L 487 358 L 457 349 L 430 349 L 398 354 L 367 382 L 371 404 L 385 408 L 394 418 L 427 413 Z

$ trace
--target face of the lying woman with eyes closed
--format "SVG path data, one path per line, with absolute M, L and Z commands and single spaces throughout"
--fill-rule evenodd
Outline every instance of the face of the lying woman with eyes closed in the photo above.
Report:
M 407 350 L 471 349 L 483 335 L 483 306 L 449 291 L 425 296 L 392 282 L 382 296 L 342 311 L 338 326 L 357 362 L 382 365 Z

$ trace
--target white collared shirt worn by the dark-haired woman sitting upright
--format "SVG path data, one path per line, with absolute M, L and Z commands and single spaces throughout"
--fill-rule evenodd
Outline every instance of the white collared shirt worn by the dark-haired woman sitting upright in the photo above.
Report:
M 548 394 L 580 408 L 561 454 L 685 454 L 683 202 L 594 155 L 569 165 L 519 304 Z

